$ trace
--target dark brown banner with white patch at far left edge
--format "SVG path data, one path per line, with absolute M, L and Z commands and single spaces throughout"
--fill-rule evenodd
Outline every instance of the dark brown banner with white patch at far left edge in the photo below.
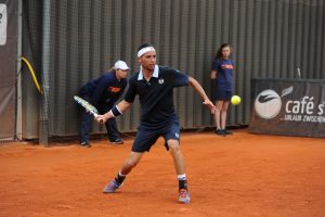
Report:
M 17 1 L 0 0 L 0 139 L 15 136 Z

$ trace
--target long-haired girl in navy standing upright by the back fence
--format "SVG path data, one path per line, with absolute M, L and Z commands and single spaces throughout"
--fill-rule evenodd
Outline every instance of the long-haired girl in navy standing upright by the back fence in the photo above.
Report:
M 223 43 L 217 52 L 211 69 L 211 79 L 216 80 L 213 102 L 217 108 L 212 113 L 217 128 L 216 133 L 220 136 L 232 135 L 231 131 L 225 129 L 226 111 L 233 95 L 234 64 L 230 55 L 231 46 Z

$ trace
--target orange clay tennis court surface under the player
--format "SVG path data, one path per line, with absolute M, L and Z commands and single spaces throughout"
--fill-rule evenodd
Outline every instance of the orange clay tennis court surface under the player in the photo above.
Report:
M 183 132 L 190 205 L 179 204 L 171 155 L 159 139 L 125 186 L 103 194 L 128 156 L 122 145 L 0 144 L 0 216 L 325 216 L 325 140 Z

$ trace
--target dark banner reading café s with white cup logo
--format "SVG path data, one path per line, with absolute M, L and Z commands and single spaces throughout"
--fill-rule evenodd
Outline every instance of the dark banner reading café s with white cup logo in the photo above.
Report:
M 325 138 L 325 80 L 251 79 L 248 130 Z

